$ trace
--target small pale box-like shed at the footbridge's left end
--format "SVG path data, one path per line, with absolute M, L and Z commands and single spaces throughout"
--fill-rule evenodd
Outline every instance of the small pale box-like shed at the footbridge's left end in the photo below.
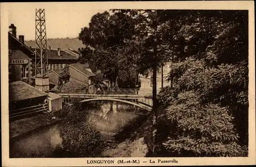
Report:
M 62 109 L 62 97 L 61 96 L 59 96 L 55 93 L 49 92 L 48 100 L 49 100 L 50 112 L 56 112 L 57 110 Z

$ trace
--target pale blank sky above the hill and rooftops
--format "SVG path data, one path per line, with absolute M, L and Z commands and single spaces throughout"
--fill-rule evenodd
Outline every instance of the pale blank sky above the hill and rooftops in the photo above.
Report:
M 16 26 L 17 37 L 35 40 L 35 9 L 45 9 L 46 32 L 49 38 L 76 38 L 91 17 L 109 9 L 88 3 L 11 3 L 8 4 L 9 25 Z

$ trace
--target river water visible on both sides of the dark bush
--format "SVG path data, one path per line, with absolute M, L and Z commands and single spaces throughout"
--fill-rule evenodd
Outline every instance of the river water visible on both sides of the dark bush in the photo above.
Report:
M 110 104 L 102 104 L 101 110 L 91 110 L 87 117 L 87 121 L 95 125 L 106 140 L 111 140 L 127 122 L 138 117 L 133 113 L 122 113 L 122 110 L 131 106 L 119 104 L 119 109 L 115 106 L 113 105 L 113 111 L 110 112 Z M 11 140 L 10 158 L 53 157 L 55 147 L 62 141 L 59 126 L 58 123 L 45 126 Z

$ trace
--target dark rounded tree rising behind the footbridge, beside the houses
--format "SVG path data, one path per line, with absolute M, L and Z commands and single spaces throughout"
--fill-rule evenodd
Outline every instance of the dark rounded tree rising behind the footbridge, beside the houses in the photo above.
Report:
M 132 19 L 122 13 L 94 15 L 89 27 L 84 27 L 79 34 L 79 40 L 87 46 L 79 49 L 82 53 L 80 61 L 88 62 L 94 71 L 101 70 L 104 77 L 114 82 L 115 86 L 125 80 L 132 80 L 122 76 L 124 71 L 133 70 L 131 77 L 137 77 L 136 66 L 131 69 L 130 55 L 124 52 L 124 48 L 129 47 L 129 41 L 134 38 L 133 26 Z M 132 88 L 135 88 L 138 79 L 133 82 Z

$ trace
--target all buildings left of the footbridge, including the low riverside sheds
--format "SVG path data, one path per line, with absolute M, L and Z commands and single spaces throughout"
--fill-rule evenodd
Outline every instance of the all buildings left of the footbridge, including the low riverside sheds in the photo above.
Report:
M 37 112 L 44 110 L 44 102 L 49 101 L 49 110 L 62 108 L 61 97 L 51 93 L 61 88 L 88 88 L 94 84 L 95 74 L 89 64 L 78 63 L 79 53 L 73 49 L 57 50 L 48 47 L 49 91 L 35 88 L 35 48 L 27 46 L 24 36 L 16 36 L 14 24 L 9 26 L 9 114 L 16 111 L 25 113 L 38 106 Z M 57 100 L 56 100 L 57 99 Z M 32 109 L 31 109 L 32 108 Z M 20 112 L 22 111 L 22 112 Z M 35 110 L 33 110 L 35 111 Z

